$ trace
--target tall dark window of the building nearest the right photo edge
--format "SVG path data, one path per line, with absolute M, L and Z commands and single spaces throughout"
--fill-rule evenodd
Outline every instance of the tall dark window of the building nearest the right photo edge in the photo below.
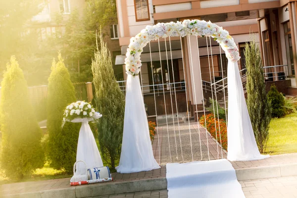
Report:
M 295 75 L 290 21 L 284 23 L 289 75 Z

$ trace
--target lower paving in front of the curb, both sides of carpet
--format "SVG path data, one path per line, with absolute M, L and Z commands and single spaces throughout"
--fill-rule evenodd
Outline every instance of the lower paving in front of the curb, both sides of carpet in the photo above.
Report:
M 297 176 L 240 181 L 246 198 L 297 198 Z M 167 198 L 167 190 L 145 191 L 97 198 Z

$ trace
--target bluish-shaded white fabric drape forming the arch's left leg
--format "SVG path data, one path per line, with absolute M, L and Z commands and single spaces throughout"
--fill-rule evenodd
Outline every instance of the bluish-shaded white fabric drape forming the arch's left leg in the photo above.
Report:
M 128 75 L 124 132 L 119 173 L 133 173 L 160 168 L 153 157 L 148 119 L 139 77 Z

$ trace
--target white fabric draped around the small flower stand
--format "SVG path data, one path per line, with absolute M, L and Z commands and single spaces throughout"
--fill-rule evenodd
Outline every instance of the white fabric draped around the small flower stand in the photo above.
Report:
M 97 115 L 98 118 L 102 115 Z M 71 122 L 81 122 L 82 126 L 79 131 L 77 151 L 76 151 L 76 161 L 83 160 L 87 164 L 87 169 L 102 167 L 103 162 L 89 125 L 88 118 L 75 118 Z M 86 167 L 79 163 L 76 166 L 76 171 L 78 174 L 82 175 L 86 173 Z

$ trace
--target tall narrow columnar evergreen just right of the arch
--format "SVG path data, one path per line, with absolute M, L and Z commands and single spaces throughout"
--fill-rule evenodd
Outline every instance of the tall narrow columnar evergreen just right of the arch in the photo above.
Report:
M 263 65 L 255 36 L 252 36 L 251 42 L 246 44 L 245 57 L 247 68 L 247 109 L 258 148 L 260 152 L 263 152 L 269 135 L 271 103 L 265 91 Z

